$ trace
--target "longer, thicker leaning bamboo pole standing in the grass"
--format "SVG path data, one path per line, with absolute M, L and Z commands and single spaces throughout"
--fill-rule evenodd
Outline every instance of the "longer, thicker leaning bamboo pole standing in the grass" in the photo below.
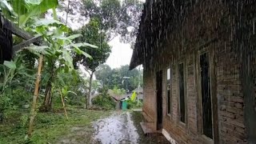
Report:
M 37 79 L 35 82 L 33 102 L 32 102 L 31 111 L 30 111 L 30 125 L 29 125 L 29 130 L 28 130 L 29 138 L 31 137 L 31 134 L 33 131 L 34 117 L 36 114 L 36 106 L 37 106 L 37 100 L 38 100 L 38 88 L 39 88 L 39 83 L 40 83 L 40 79 L 41 79 L 41 71 L 42 71 L 42 59 L 43 59 L 43 55 L 41 54 L 40 58 L 39 58 L 39 62 L 38 62 L 38 75 L 37 75 Z

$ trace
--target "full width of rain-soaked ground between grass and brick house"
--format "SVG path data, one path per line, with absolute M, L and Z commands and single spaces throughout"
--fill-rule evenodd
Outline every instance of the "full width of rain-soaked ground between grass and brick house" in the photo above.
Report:
M 71 134 L 58 143 L 170 143 L 162 134 L 144 135 L 139 122 L 143 121 L 139 112 L 116 111 L 108 118 L 94 122 L 92 128 L 74 127 Z

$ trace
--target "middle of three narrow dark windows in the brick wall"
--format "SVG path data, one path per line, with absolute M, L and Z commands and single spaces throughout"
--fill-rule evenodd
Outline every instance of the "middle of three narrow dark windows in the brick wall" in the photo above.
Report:
M 180 121 L 185 123 L 185 86 L 184 86 L 184 64 L 178 65 L 178 76 L 179 76 L 179 116 Z

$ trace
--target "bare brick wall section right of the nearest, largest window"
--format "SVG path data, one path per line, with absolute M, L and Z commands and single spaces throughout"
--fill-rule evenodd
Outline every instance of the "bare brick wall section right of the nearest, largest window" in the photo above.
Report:
M 245 137 L 240 65 L 231 47 L 216 49 L 219 126 L 222 142 L 242 143 Z

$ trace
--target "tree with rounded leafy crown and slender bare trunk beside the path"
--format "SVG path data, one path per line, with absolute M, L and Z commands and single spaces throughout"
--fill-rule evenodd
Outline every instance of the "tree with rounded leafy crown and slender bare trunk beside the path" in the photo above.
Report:
M 106 59 L 110 56 L 111 49 L 106 42 L 106 33 L 101 30 L 101 22 L 99 22 L 97 18 L 90 19 L 90 22 L 86 26 L 83 26 L 81 30 L 74 31 L 74 33 L 82 34 L 82 37 L 75 40 L 76 42 L 90 42 L 91 44 L 98 46 L 97 49 L 85 49 L 85 52 L 90 54 L 92 58 L 74 54 L 74 66 L 77 67 L 78 64 L 82 64 L 90 74 L 87 106 L 92 106 L 91 90 L 93 75 L 97 67 L 106 62 Z M 84 50 L 82 47 L 81 49 Z

